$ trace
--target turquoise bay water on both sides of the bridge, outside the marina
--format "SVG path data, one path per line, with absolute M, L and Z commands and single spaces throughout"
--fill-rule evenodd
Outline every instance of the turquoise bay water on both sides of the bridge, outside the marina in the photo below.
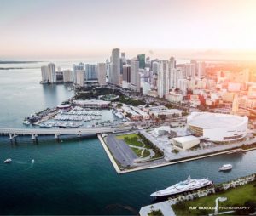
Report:
M 73 94 L 39 81 L 38 69 L 0 71 L 1 126 L 23 127 L 20 121 L 27 114 Z M 3 163 L 9 157 L 14 162 Z M 224 163 L 233 164 L 230 173 L 218 172 Z M 131 215 L 154 202 L 149 196 L 154 190 L 189 175 L 220 183 L 256 173 L 255 163 L 256 151 L 250 151 L 118 175 L 96 137 L 56 142 L 41 136 L 38 143 L 30 137 L 18 137 L 16 143 L 0 137 L 0 213 Z

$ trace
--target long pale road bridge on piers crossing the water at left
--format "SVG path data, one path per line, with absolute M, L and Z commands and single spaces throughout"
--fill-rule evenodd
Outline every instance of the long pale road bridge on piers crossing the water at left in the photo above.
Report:
M 37 139 L 38 135 L 55 135 L 58 139 L 60 135 L 77 134 L 101 134 L 117 133 L 131 130 L 131 126 L 115 127 L 93 127 L 93 128 L 0 128 L 0 135 L 9 135 L 9 139 L 14 139 L 18 135 L 31 135 L 32 139 Z

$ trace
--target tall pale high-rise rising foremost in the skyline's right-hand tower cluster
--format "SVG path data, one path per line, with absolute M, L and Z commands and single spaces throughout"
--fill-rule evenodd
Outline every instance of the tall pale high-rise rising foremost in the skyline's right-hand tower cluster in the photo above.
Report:
M 158 95 L 163 98 L 169 93 L 169 63 L 167 60 L 160 61 L 160 71 L 158 73 Z

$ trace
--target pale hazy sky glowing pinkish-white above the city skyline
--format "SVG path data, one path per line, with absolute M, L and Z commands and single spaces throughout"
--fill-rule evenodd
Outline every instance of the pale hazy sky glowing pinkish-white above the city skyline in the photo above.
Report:
M 256 60 L 255 0 L 0 0 L 0 60 Z

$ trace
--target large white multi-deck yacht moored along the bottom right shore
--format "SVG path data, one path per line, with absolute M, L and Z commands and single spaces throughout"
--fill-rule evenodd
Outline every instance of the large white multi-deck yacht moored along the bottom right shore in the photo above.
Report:
M 212 184 L 213 184 L 212 181 L 210 181 L 209 179 L 191 179 L 189 176 L 188 179 L 181 181 L 170 187 L 167 187 L 164 190 L 156 191 L 150 196 L 153 196 L 153 197 L 171 196 L 171 195 L 187 192 L 189 190 L 200 189 L 202 187 L 206 187 Z

